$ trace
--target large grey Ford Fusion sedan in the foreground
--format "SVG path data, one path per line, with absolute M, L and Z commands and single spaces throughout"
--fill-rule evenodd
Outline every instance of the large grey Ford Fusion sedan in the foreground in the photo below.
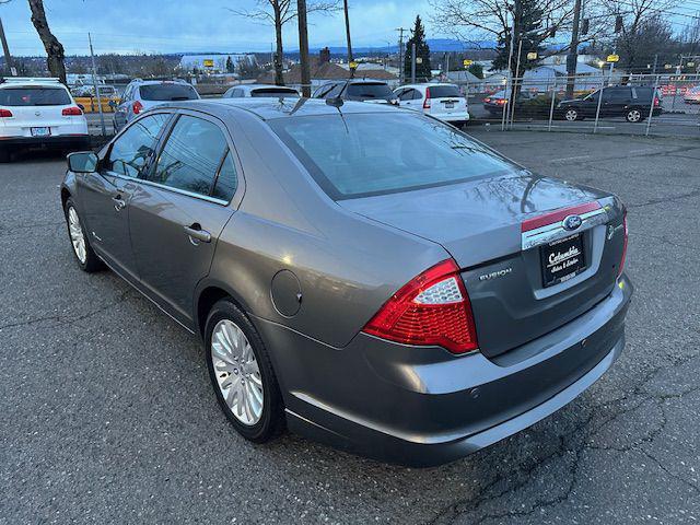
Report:
M 563 407 L 625 346 L 620 201 L 418 112 L 182 102 L 68 165 L 80 268 L 200 336 L 254 442 L 287 424 L 444 463 Z

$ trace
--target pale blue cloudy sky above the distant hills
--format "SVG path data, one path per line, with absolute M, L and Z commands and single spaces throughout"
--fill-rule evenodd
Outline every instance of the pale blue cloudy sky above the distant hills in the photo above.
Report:
M 428 0 L 349 3 L 352 43 L 358 47 L 395 44 L 396 27 L 409 28 L 416 14 L 427 19 L 431 12 Z M 44 0 L 44 5 L 67 55 L 89 54 L 88 32 L 96 54 L 269 51 L 275 39 L 270 25 L 230 11 L 254 8 L 255 0 Z M 0 3 L 0 19 L 13 55 L 44 55 L 26 0 Z M 346 45 L 342 11 L 314 14 L 310 24 L 311 47 Z M 429 37 L 440 36 L 428 30 Z M 299 47 L 293 22 L 285 26 L 284 45 L 289 50 Z

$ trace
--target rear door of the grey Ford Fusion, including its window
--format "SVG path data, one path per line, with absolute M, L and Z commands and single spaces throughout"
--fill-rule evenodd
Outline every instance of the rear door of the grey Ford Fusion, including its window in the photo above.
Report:
M 129 205 L 141 285 L 185 326 L 194 326 L 195 288 L 233 213 L 240 173 L 233 151 L 221 121 L 183 112 Z

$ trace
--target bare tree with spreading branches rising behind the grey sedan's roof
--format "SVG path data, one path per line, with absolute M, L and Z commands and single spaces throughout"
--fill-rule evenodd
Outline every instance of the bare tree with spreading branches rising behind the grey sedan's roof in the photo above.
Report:
M 330 13 L 338 10 L 338 0 L 317 0 L 307 2 L 306 13 Z M 230 9 L 238 16 L 246 16 L 262 24 L 275 26 L 275 83 L 284 84 L 282 74 L 284 48 L 282 46 L 282 28 L 284 25 L 298 18 L 298 7 L 293 0 L 255 0 L 255 8 L 252 10 Z

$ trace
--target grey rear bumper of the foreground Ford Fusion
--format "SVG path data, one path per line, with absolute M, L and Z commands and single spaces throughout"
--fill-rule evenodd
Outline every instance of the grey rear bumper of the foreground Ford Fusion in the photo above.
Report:
M 256 319 L 278 372 L 290 429 L 381 460 L 431 466 L 500 441 L 563 407 L 625 346 L 632 287 L 498 358 L 360 334 L 343 349 Z

